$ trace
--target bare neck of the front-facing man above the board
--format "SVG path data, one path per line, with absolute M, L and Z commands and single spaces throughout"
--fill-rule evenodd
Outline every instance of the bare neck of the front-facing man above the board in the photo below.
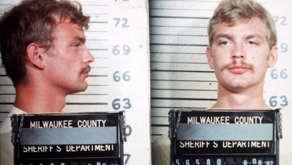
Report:
M 263 101 L 263 83 L 238 90 L 225 89 L 218 83 L 218 100 L 211 108 L 270 108 Z

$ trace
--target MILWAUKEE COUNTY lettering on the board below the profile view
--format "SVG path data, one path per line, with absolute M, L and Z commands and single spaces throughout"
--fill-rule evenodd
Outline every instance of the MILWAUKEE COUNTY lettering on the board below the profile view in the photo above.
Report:
M 106 120 L 78 120 L 78 127 L 105 127 Z M 30 121 L 30 128 L 72 128 L 72 120 Z

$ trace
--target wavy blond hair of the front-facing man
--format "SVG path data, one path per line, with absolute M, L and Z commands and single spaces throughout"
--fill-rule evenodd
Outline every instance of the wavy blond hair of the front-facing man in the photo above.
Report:
M 267 30 L 267 40 L 270 48 L 277 44 L 275 22 L 270 13 L 254 0 L 224 0 L 215 9 L 208 24 L 209 45 L 214 41 L 215 26 L 219 22 L 234 25 L 242 20 L 259 17 Z

